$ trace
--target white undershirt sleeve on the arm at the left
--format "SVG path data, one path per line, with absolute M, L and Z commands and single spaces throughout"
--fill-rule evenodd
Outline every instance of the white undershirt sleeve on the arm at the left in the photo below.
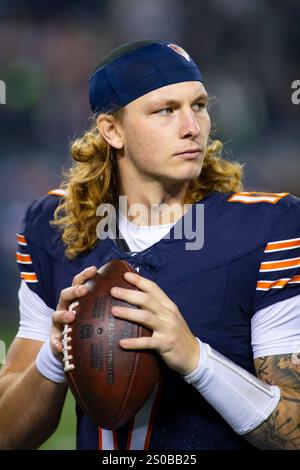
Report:
M 50 335 L 54 310 L 49 308 L 24 281 L 21 282 L 18 296 L 20 325 L 17 338 L 46 341 Z

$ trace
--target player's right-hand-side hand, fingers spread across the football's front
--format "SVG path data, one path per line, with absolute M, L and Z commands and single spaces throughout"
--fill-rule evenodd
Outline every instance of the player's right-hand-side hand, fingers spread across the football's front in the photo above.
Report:
M 127 282 L 139 291 L 112 288 L 117 299 L 136 305 L 112 307 L 115 317 L 129 320 L 153 330 L 151 337 L 126 338 L 120 341 L 124 349 L 154 349 L 171 369 L 182 375 L 192 372 L 199 360 L 199 344 L 175 303 L 155 283 L 139 274 L 125 273 Z

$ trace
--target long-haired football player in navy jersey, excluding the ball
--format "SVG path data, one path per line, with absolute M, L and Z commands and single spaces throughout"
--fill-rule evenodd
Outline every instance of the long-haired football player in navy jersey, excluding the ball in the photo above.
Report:
M 69 305 L 99 266 L 125 259 L 138 290 L 111 293 L 139 310 L 112 313 L 153 335 L 120 345 L 155 350 L 163 381 L 116 432 L 77 407 L 78 449 L 299 449 L 299 199 L 242 191 L 181 47 L 125 44 L 89 84 L 93 124 L 72 143 L 62 189 L 33 202 L 18 234 L 20 328 L 1 373 L 1 448 L 36 448 L 55 430 Z M 123 238 L 105 232 L 103 205 L 118 209 Z M 138 220 L 135 205 L 146 208 Z

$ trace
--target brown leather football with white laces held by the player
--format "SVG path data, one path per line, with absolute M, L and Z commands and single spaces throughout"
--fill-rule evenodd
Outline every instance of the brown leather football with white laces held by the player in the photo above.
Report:
M 152 351 L 126 351 L 122 338 L 151 336 L 152 331 L 115 318 L 112 305 L 130 306 L 111 296 L 113 286 L 136 289 L 124 279 L 136 272 L 126 261 L 102 266 L 86 283 L 89 292 L 73 302 L 75 321 L 63 330 L 65 373 L 70 389 L 97 425 L 117 429 L 143 406 L 159 379 L 159 361 Z

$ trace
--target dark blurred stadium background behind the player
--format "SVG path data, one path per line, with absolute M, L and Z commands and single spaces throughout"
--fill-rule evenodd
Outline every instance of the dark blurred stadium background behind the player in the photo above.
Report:
M 88 125 L 87 78 L 104 54 L 169 39 L 199 64 L 216 136 L 246 164 L 245 189 L 300 196 L 298 0 L 0 0 L 0 340 L 18 323 L 15 233 L 27 205 L 57 187 L 68 143 Z M 75 446 L 74 403 L 43 449 Z

